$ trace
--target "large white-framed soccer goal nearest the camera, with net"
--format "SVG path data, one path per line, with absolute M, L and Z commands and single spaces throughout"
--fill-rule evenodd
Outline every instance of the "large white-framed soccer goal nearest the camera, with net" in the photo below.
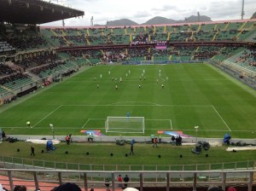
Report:
M 144 117 L 108 117 L 106 133 L 144 133 Z

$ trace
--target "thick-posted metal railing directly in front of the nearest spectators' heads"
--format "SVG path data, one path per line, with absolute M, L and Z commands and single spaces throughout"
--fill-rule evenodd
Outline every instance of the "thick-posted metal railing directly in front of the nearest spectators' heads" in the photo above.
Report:
M 121 175 L 130 177 L 128 187 L 139 188 L 143 191 L 149 187 L 166 188 L 166 191 L 174 190 L 176 187 L 189 187 L 195 191 L 200 187 L 209 185 L 218 185 L 225 190 L 232 185 L 247 187 L 247 191 L 253 191 L 256 180 L 253 180 L 253 174 L 256 170 L 242 171 L 67 171 L 67 170 L 28 170 L 28 169 L 0 169 L 3 176 L 6 176 L 3 187 L 14 189 L 15 183 L 23 182 L 23 185 L 41 188 L 41 190 L 50 190 L 55 186 L 65 182 L 73 182 L 88 191 L 89 188 L 105 188 L 105 179 L 110 180 L 110 187 L 113 191 L 123 187 L 122 182 L 117 182 L 117 177 Z M 22 178 L 17 179 L 19 175 Z M 3 179 L 0 179 L 3 182 Z M 49 183 L 46 185 L 46 183 Z M 31 189 L 32 189 L 31 188 Z M 30 190 L 28 188 L 28 190 Z

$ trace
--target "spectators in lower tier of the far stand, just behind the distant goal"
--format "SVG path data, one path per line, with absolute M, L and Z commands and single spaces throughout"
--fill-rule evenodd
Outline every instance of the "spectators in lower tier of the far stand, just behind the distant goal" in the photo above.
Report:
M 105 63 L 116 61 L 131 61 L 131 59 L 141 58 L 150 61 L 154 56 L 154 60 L 158 57 L 168 59 L 170 55 L 185 57 L 187 60 L 204 61 L 215 55 L 230 54 L 236 51 L 237 47 L 224 46 L 171 46 L 167 49 L 154 49 L 151 47 L 130 46 L 126 48 L 106 48 L 106 49 L 77 49 L 69 50 L 67 54 L 71 60 L 76 58 L 97 59 Z M 168 58 L 167 58 L 168 57 Z

